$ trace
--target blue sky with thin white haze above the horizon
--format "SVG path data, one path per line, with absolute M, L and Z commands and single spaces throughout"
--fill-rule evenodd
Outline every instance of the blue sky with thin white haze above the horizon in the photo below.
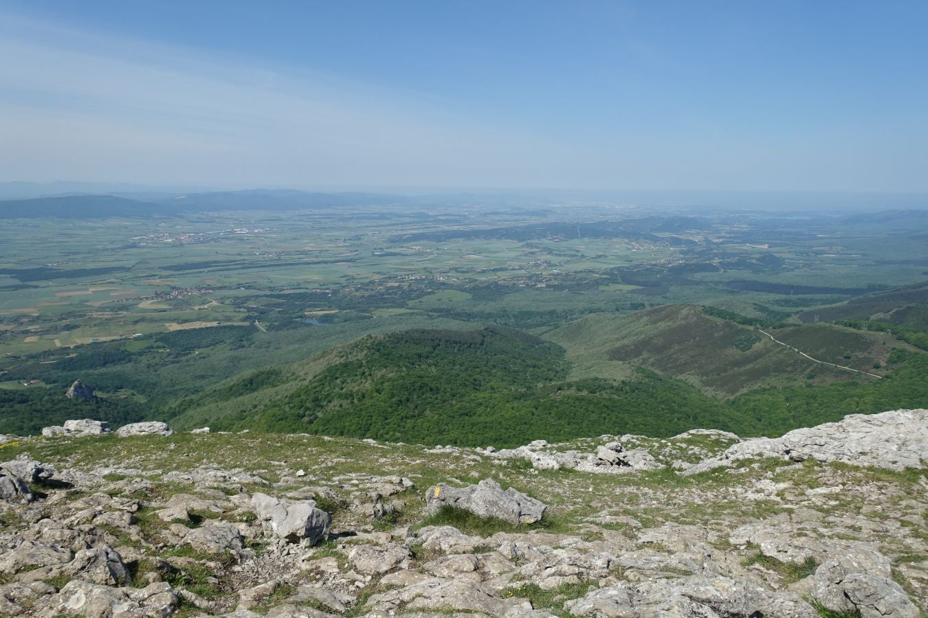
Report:
M 0 0 L 0 182 L 928 192 L 928 3 Z

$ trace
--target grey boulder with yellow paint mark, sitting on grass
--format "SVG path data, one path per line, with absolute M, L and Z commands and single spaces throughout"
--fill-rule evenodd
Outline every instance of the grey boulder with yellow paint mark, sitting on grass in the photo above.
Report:
M 512 487 L 503 491 L 492 479 L 461 489 L 439 483 L 429 487 L 425 499 L 431 511 L 437 511 L 447 505 L 481 517 L 496 517 L 509 523 L 535 523 L 548 508 L 540 500 L 529 498 Z

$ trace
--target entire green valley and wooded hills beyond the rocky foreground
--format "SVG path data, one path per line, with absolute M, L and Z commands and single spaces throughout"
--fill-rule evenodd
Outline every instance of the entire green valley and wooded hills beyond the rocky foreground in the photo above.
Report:
M 435 203 L 60 221 L 0 229 L 0 432 L 79 414 L 512 446 L 775 435 L 924 405 L 917 212 Z M 97 400 L 61 397 L 76 379 Z

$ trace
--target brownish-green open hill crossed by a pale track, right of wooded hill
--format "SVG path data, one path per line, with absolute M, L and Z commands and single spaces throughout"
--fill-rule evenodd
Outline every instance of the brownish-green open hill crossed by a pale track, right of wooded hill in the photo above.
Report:
M 808 347 L 813 356 L 822 354 L 822 360 L 870 371 L 874 362 L 885 362 L 890 349 L 901 345 L 884 334 L 823 324 L 780 329 L 775 336 L 804 351 Z M 853 373 L 804 359 L 751 327 L 705 316 L 695 306 L 591 315 L 545 337 L 566 348 L 577 377 L 612 377 L 634 364 L 686 380 L 715 397 L 788 385 L 809 373 L 816 375 L 818 385 L 857 379 Z M 844 359 L 846 351 L 852 359 Z

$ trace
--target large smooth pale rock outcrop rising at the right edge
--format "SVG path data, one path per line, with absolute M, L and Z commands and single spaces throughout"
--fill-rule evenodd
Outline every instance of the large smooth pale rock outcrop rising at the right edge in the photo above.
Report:
M 900 471 L 928 460 L 928 410 L 849 414 L 838 423 L 796 429 L 778 438 L 745 440 L 711 460 L 692 466 L 696 474 L 753 457 L 793 461 L 841 461 Z

